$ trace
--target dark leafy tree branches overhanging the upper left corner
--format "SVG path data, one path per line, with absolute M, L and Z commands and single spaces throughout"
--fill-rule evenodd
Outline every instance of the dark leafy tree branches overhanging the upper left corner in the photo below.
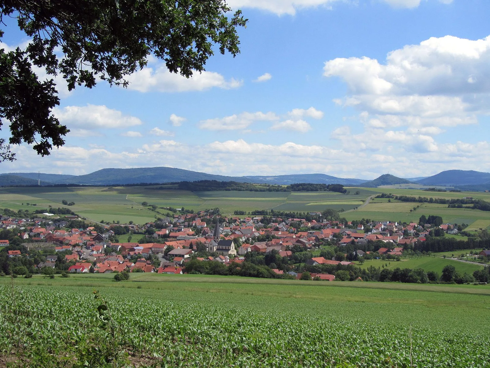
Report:
M 189 78 L 204 70 L 214 45 L 240 52 L 237 27 L 247 20 L 240 10 L 227 17 L 230 10 L 222 0 L 0 0 L 0 22 L 14 17 L 30 37 L 24 50 L 0 49 L 0 123 L 9 121 L 11 132 L 8 143 L 0 139 L 0 162 L 14 160 L 9 144 L 22 142 L 49 155 L 69 132 L 51 113 L 59 105 L 55 83 L 39 80 L 33 65 L 61 74 L 69 90 L 97 79 L 126 86 L 124 77 L 150 55 Z

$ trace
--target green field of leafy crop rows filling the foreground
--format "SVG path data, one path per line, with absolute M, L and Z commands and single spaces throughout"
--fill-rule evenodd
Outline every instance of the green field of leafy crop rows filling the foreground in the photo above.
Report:
M 234 293 L 234 285 L 225 286 L 227 291 L 197 283 L 185 290 L 149 290 L 125 283 L 131 288 L 118 283 L 119 288 L 100 289 L 99 299 L 86 287 L 0 286 L 0 366 L 19 357 L 30 367 L 488 367 L 490 362 L 488 295 L 288 285 L 242 286 L 246 293 Z M 259 288 L 284 297 L 254 295 Z M 344 298 L 325 302 L 305 294 L 332 290 Z M 365 302 L 347 297 L 356 293 Z

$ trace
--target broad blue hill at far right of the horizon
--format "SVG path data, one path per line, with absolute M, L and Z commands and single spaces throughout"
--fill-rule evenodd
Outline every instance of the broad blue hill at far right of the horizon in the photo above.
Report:
M 446 170 L 428 178 L 418 180 L 417 184 L 423 185 L 479 185 L 490 182 L 490 173 L 473 170 Z

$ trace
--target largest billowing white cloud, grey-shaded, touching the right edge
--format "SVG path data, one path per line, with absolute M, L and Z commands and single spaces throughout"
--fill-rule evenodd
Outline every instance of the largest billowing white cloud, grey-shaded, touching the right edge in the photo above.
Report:
M 489 63 L 490 36 L 444 36 L 392 51 L 384 64 L 368 57 L 329 60 L 323 74 L 347 83 L 349 95 L 336 102 L 366 111 L 370 126 L 456 126 L 489 112 Z

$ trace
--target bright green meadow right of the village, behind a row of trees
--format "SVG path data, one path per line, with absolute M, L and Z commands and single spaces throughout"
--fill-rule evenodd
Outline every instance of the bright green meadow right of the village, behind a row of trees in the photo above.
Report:
M 460 253 L 458 253 L 460 252 Z M 461 251 L 454 251 L 454 254 L 461 254 Z M 469 273 L 472 274 L 473 271 L 481 269 L 483 266 L 479 266 L 477 264 L 465 263 L 456 260 L 444 259 L 440 257 L 433 256 L 422 256 L 417 258 L 410 259 L 402 259 L 401 261 L 389 261 L 389 260 L 370 260 L 365 261 L 362 265 L 359 265 L 362 268 L 368 268 L 369 266 L 383 268 L 423 268 L 425 272 L 436 271 L 439 274 L 442 272 L 442 268 L 444 266 L 451 264 L 456 268 L 456 271 L 460 273 Z

